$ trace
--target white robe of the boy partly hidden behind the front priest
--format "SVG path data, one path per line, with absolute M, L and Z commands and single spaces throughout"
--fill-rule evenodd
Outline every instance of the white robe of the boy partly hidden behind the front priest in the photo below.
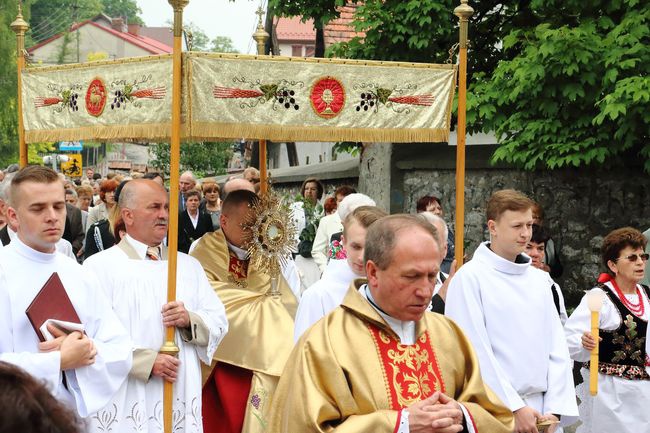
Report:
M 322 317 L 341 305 L 355 278 L 347 260 L 330 260 L 323 277 L 302 293 L 294 325 L 294 340 Z

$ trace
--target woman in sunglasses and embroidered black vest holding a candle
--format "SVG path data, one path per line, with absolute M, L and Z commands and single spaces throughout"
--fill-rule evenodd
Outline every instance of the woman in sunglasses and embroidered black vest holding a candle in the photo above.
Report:
M 650 317 L 648 288 L 639 284 L 648 254 L 647 240 L 625 227 L 603 240 L 602 262 L 607 273 L 580 301 L 565 325 L 571 357 L 583 362 L 580 398 L 582 425 L 577 433 L 638 433 L 650 426 L 650 376 L 645 368 L 646 333 Z M 588 297 L 603 296 L 599 316 L 598 394 L 589 393 L 589 357 L 595 347 L 590 332 Z

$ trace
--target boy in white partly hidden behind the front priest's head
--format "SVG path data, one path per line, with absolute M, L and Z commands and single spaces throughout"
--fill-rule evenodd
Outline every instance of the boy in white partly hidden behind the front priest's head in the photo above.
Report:
M 350 213 L 343 223 L 343 248 L 345 260 L 330 260 L 323 277 L 312 284 L 300 298 L 294 327 L 294 340 L 322 317 L 341 305 L 350 283 L 366 277 L 363 252 L 366 245 L 366 231 L 372 223 L 387 213 L 374 206 L 361 206 Z

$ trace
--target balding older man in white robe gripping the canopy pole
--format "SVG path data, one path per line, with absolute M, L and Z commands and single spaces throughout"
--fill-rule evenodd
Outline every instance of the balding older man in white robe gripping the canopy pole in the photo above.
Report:
M 210 365 L 228 330 L 223 304 L 199 262 L 178 254 L 177 300 L 167 302 L 169 198 L 147 179 L 129 181 L 119 197 L 126 236 L 84 263 L 133 340 L 133 367 L 115 397 L 92 419 L 96 431 L 162 432 L 164 380 L 174 383 L 174 432 L 202 433 L 201 361 Z M 158 353 L 165 326 L 176 327 L 177 357 Z

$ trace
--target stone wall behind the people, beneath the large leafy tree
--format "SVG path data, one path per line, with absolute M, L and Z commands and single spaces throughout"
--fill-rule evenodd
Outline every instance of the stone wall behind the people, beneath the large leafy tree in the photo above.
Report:
M 423 195 L 441 198 L 453 228 L 455 171 L 406 170 L 403 173 L 403 210 L 415 212 Z M 465 177 L 465 246 L 471 254 L 487 239 L 485 203 L 499 189 L 515 188 L 539 202 L 545 225 L 560 251 L 564 272 L 561 285 L 568 307 L 579 302 L 582 291 L 593 286 L 600 265 L 600 245 L 611 230 L 650 227 L 650 180 L 638 168 L 625 170 L 519 171 L 508 168 L 469 167 Z

